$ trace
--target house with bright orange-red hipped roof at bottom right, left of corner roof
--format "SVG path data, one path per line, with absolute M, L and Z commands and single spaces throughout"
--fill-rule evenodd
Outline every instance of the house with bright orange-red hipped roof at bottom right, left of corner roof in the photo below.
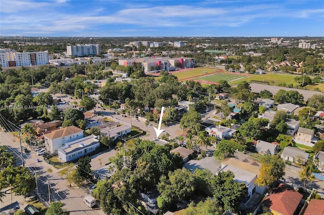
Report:
M 301 204 L 303 195 L 293 187 L 279 184 L 262 202 L 263 212 L 270 214 L 294 215 L 298 214 L 297 208 Z

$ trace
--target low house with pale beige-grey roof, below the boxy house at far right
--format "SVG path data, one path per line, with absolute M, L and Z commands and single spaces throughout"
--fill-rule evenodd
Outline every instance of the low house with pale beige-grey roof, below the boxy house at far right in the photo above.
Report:
M 301 165 L 305 165 L 308 161 L 309 154 L 305 151 L 302 151 L 298 148 L 294 148 L 292 146 L 287 146 L 281 152 L 281 158 L 283 160 L 288 160 L 289 162 L 296 162 Z

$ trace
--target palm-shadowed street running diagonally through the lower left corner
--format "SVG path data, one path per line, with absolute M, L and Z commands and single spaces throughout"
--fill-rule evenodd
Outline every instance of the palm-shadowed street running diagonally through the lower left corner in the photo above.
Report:
M 0 142 L 2 145 L 7 145 L 8 148 L 16 155 L 19 153 L 19 141 L 14 138 L 11 133 L 0 132 Z M 23 146 L 29 147 L 25 144 Z M 23 152 L 25 160 L 25 167 L 28 168 L 33 174 L 37 175 L 37 187 L 39 195 L 45 200 L 45 203 L 49 205 L 49 187 L 52 201 L 62 201 L 65 204 L 65 208 L 70 211 L 70 214 L 104 214 L 102 210 L 94 210 L 89 208 L 84 202 L 83 198 L 88 195 L 88 189 L 82 189 L 79 187 L 67 187 L 67 181 L 63 179 L 51 165 L 44 162 L 43 156 L 37 156 L 35 152 L 29 153 Z M 39 158 L 40 162 L 37 162 Z M 21 164 L 21 160 L 18 159 L 17 165 Z M 51 169 L 53 172 L 49 172 Z M 50 186 L 49 186 L 50 184 Z M 22 197 L 22 196 L 20 196 Z M 10 198 L 6 203 L 11 203 L 10 195 L 7 195 L 6 199 Z M 19 197 L 17 197 L 19 198 Z M 26 206 L 27 202 L 24 198 L 21 199 L 21 207 Z M 3 205 L 5 206 L 5 205 Z

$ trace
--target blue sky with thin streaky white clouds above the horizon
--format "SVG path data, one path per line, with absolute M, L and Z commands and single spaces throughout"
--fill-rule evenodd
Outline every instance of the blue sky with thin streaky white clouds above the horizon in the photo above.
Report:
M 324 1 L 1 0 L 0 36 L 324 36 Z

